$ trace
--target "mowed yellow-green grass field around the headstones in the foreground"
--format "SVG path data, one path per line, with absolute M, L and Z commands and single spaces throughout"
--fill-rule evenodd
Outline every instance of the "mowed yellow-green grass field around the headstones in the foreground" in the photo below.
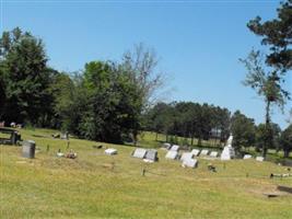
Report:
M 72 138 L 78 158 L 70 160 L 56 158 L 67 141 L 54 132 L 21 129 L 40 149 L 32 160 L 21 147 L 1 146 L 0 218 L 292 218 L 292 195 L 264 195 L 292 186 L 292 177 L 269 178 L 288 173 L 284 166 L 199 159 L 197 169 L 184 169 L 162 149 L 160 161 L 148 164 L 130 157 L 132 147 L 102 143 L 118 150 L 109 157 L 92 147 L 98 142 Z

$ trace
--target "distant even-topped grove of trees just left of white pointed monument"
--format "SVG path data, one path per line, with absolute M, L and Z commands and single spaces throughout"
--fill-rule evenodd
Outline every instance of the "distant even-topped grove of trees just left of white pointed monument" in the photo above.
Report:
M 148 130 L 191 138 L 198 138 L 198 143 L 212 137 L 212 128 L 221 130 L 221 140 L 229 135 L 230 112 L 219 106 L 192 102 L 157 103 L 144 116 Z M 172 138 L 170 140 L 173 140 Z M 168 140 L 168 141 L 170 141 Z

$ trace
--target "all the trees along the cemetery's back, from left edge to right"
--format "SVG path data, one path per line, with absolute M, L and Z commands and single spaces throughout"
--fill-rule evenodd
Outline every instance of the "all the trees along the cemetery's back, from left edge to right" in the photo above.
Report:
M 70 131 L 81 138 L 137 142 L 140 130 L 190 138 L 198 145 L 212 136 L 223 142 L 234 135 L 237 151 L 256 146 L 264 157 L 269 148 L 292 145 L 292 127 L 281 131 L 272 123 L 273 105 L 283 107 L 290 93 L 284 76 L 292 68 L 292 0 L 278 9 L 278 18 L 262 22 L 258 16 L 247 27 L 268 47 L 252 50 L 241 59 L 247 69 L 244 85 L 254 89 L 266 103 L 265 124 L 241 112 L 192 102 L 157 103 L 163 84 L 156 71 L 155 53 L 143 45 L 125 53 L 120 61 L 93 60 L 81 72 L 60 72 L 48 65 L 44 43 L 16 27 L 0 38 L 0 120 Z

